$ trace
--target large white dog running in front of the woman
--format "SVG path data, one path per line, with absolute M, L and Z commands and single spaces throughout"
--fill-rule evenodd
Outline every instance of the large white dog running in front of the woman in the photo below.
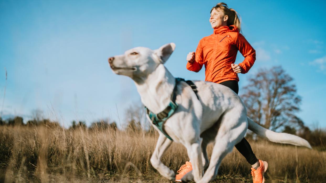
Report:
M 164 121 L 162 127 L 173 141 L 183 144 L 187 149 L 196 182 L 209 182 L 215 178 L 222 159 L 240 142 L 247 129 L 272 142 L 311 148 L 300 137 L 276 133 L 251 121 L 247 118 L 242 100 L 226 86 L 194 81 L 198 89 L 197 98 L 188 84 L 176 82 L 163 65 L 174 48 L 174 43 L 161 46 L 157 50 L 136 47 L 126 51 L 124 55 L 109 58 L 109 64 L 116 74 L 129 76 L 135 81 L 142 103 L 154 114 L 166 109 L 171 102 L 171 96 L 176 94 L 175 103 L 178 107 Z M 174 172 L 160 161 L 172 141 L 156 125 L 154 127 L 158 130 L 159 137 L 151 163 L 162 176 L 174 180 Z M 215 144 L 209 163 L 206 146 L 211 141 Z M 207 166 L 204 174 L 203 170 Z M 190 174 L 191 178 L 192 175 Z M 182 180 L 189 179 L 188 174 L 187 176 L 188 178 L 185 176 Z

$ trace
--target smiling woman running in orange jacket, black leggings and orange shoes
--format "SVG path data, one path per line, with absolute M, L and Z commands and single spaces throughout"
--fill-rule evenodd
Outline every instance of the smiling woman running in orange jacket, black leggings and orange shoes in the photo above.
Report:
M 225 3 L 218 3 L 211 9 L 209 19 L 214 33 L 202 38 L 195 52 L 187 55 L 187 69 L 199 72 L 205 65 L 205 81 L 225 85 L 235 93 L 239 91 L 238 73 L 247 73 L 256 60 L 256 51 L 239 33 L 241 22 L 237 12 L 228 8 Z M 234 64 L 238 50 L 244 56 L 244 61 Z M 243 138 L 235 145 L 237 150 L 251 164 L 251 175 L 254 183 L 264 182 L 267 162 L 258 160 L 248 141 Z M 190 162 L 186 162 L 178 171 L 176 181 L 192 170 Z

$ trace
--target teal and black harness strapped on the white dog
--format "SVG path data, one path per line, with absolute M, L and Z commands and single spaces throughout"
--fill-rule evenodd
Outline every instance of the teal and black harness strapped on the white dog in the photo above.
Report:
M 163 125 L 166 122 L 166 120 L 169 119 L 178 108 L 178 104 L 175 103 L 175 99 L 177 97 L 177 95 L 176 95 L 177 85 L 181 81 L 186 82 L 192 88 L 192 90 L 195 92 L 197 98 L 199 99 L 198 94 L 197 94 L 198 93 L 197 87 L 192 81 L 190 81 L 190 80 L 185 81 L 185 79 L 183 79 L 183 78 L 175 78 L 175 85 L 174 85 L 173 92 L 171 95 L 170 103 L 163 111 L 155 114 L 145 106 L 145 109 L 146 109 L 149 119 L 151 119 L 152 123 L 170 140 L 172 140 L 172 138 L 166 133 L 166 131 L 163 128 Z

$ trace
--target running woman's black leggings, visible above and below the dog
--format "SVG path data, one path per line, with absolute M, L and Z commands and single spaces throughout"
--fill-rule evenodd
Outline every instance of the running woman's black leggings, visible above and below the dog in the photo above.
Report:
M 221 85 L 231 88 L 235 93 L 239 92 L 239 85 L 237 81 L 230 80 L 220 83 Z M 255 164 L 258 159 L 256 158 L 254 152 L 251 149 L 249 142 L 243 138 L 238 144 L 235 145 L 235 148 L 245 157 L 248 163 L 251 165 Z

